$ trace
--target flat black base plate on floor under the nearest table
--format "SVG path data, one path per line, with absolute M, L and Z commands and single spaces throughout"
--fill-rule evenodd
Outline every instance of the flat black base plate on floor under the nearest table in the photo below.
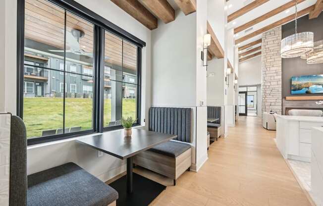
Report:
M 166 186 L 147 179 L 139 174 L 132 174 L 133 192 L 127 192 L 127 175 L 115 180 L 109 185 L 119 193 L 117 206 L 148 206 Z

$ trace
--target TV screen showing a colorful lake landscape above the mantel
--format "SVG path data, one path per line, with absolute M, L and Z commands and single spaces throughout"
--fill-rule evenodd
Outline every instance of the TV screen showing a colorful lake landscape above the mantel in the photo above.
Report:
M 292 77 L 292 95 L 323 93 L 323 74 Z

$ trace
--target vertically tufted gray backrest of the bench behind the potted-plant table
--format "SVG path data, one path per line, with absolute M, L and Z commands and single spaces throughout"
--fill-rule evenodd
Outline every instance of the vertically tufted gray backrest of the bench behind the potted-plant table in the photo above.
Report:
M 191 108 L 150 107 L 149 130 L 177 135 L 181 142 L 191 143 Z

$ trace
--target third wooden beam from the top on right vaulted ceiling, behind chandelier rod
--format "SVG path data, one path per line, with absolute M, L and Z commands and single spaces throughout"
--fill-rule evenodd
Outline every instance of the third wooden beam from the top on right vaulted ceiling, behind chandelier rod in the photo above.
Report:
M 314 9 L 314 6 L 315 5 L 312 5 L 312 6 L 309 6 L 309 7 L 305 8 L 305 9 L 303 9 L 303 10 L 298 11 L 297 16 L 303 16 L 305 14 L 310 13 Z M 283 25 L 283 24 L 293 20 L 294 18 L 295 18 L 295 13 L 291 14 L 291 15 L 285 17 L 285 18 L 282 18 L 279 21 L 276 21 L 276 22 L 274 22 L 272 24 L 269 24 L 268 26 L 265 26 L 265 27 L 263 27 L 261 29 L 258 29 L 257 31 L 255 31 L 255 32 L 253 32 L 251 34 L 248 34 L 248 35 L 246 35 L 244 37 L 241 37 L 240 39 L 237 39 L 235 41 L 235 44 L 239 44 L 239 43 L 244 42 L 244 41 L 246 41 L 246 40 L 248 40 L 250 38 L 253 38 L 253 37 L 257 36 L 257 35 L 260 35 L 260 34 L 262 34 L 264 32 L 267 32 L 270 29 L 273 29 L 273 28 L 276 28 L 277 26 Z

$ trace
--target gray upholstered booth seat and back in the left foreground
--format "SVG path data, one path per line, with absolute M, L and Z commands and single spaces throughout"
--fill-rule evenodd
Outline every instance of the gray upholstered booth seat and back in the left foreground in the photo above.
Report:
M 27 177 L 26 128 L 11 118 L 10 206 L 112 206 L 118 193 L 75 163 Z

